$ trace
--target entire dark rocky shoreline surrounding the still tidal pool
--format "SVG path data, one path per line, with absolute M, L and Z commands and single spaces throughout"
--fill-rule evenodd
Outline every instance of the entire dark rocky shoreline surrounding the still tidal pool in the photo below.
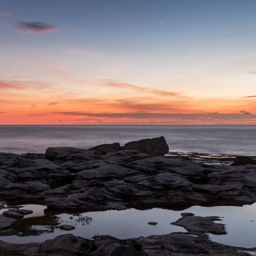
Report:
M 162 137 L 99 145 L 89 150 L 47 148 L 45 154 L 0 153 L 0 235 L 26 211 L 15 202 L 38 202 L 52 212 L 106 209 L 186 209 L 191 205 L 244 205 L 256 202 L 255 157 L 169 154 Z M 206 161 L 207 162 L 207 161 Z M 6 207 L 8 205 L 8 207 Z M 206 233 L 225 232 L 217 217 L 184 214 L 175 222 L 187 233 L 92 240 L 71 234 L 42 243 L 0 241 L 2 255 L 250 255 L 244 248 L 212 242 Z M 207 227 L 209 230 L 207 230 Z M 1 237 L 0 237 L 1 239 Z M 63 245 L 65 244 L 65 245 Z M 247 251 L 249 249 L 246 249 Z

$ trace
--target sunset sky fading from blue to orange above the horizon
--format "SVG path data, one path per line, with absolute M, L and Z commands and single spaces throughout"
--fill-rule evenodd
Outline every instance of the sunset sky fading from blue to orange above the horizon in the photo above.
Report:
M 256 124 L 255 0 L 0 0 L 0 124 Z

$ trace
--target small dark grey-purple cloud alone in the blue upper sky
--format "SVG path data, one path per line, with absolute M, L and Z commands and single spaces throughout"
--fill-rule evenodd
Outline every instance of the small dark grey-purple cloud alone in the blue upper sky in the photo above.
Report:
M 45 24 L 42 22 L 23 22 L 19 21 L 17 24 L 18 31 L 20 33 L 51 33 L 58 30 L 58 27 L 51 24 Z

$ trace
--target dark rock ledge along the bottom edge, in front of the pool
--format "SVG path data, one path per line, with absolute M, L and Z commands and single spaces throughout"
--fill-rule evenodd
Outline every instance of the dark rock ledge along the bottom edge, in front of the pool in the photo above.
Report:
M 253 252 L 252 249 L 225 246 L 182 233 L 135 239 L 94 236 L 93 240 L 65 234 L 42 243 L 28 244 L 9 244 L 0 240 L 0 252 L 6 256 L 250 256 L 243 250 Z

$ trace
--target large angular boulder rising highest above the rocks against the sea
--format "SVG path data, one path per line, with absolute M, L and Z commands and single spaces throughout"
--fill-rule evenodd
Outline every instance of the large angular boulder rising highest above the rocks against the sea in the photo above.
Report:
M 122 149 L 137 150 L 150 156 L 163 156 L 169 152 L 164 136 L 152 139 L 143 139 L 126 143 Z

